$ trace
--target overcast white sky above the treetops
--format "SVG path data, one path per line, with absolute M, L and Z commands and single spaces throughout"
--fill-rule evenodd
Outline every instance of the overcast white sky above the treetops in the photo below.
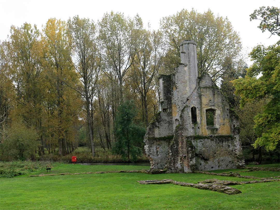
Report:
M 190 11 L 192 8 L 200 13 L 208 8 L 215 15 L 228 17 L 235 31 L 239 32 L 243 46 L 249 51 L 257 44 L 272 45 L 279 40 L 279 36 L 271 36 L 257 28 L 260 21 L 250 22 L 249 15 L 261 6 L 276 6 L 280 8 L 280 0 L 1 0 L 0 1 L 0 40 L 10 34 L 11 25 L 20 27 L 24 22 L 36 24 L 39 29 L 49 18 L 67 21 L 69 17 L 79 15 L 81 18 L 90 18 L 97 22 L 104 13 L 122 12 L 125 16 L 134 17 L 137 13 L 147 25 L 150 22 L 152 29 L 159 29 L 162 17 L 175 14 L 183 8 Z

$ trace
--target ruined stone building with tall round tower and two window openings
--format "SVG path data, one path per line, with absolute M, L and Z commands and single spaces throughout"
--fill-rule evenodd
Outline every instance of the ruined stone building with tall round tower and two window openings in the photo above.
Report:
M 161 101 L 144 138 L 151 169 L 167 172 L 245 166 L 239 122 L 208 74 L 198 77 L 196 43 L 180 43 L 181 63 L 161 75 Z

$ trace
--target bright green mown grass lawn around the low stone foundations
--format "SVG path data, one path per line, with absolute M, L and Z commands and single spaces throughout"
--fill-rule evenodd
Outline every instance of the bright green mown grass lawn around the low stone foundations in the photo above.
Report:
M 265 167 L 265 165 L 263 165 Z M 148 166 L 57 164 L 51 173 L 141 170 Z M 224 172 L 220 170 L 215 172 Z M 240 170 L 239 170 L 240 171 Z M 47 174 L 46 170 L 32 174 Z M 29 174 L 30 175 L 30 174 Z M 173 179 L 197 183 L 205 179 L 249 179 L 207 174 L 77 174 L 0 179 L 0 209 L 279 209 L 280 182 L 232 186 L 242 191 L 227 195 L 173 184 L 140 185 L 138 180 Z M 241 172 L 258 177 L 279 172 Z M 252 179 L 251 179 L 252 180 Z

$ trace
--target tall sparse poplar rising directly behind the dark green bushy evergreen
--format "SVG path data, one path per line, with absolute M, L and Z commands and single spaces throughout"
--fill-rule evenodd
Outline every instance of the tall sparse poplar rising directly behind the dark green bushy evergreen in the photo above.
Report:
M 123 83 L 135 58 L 137 28 L 142 27 L 138 16 L 131 20 L 122 13 L 104 14 L 99 22 L 99 39 L 104 56 L 108 57 L 118 77 L 120 102 L 123 102 Z

